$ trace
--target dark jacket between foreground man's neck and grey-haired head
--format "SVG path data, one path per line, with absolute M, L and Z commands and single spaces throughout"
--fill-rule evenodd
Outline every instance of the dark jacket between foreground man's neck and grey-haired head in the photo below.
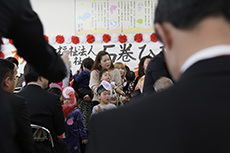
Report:
M 153 85 L 157 79 L 163 76 L 171 79 L 171 76 L 168 72 L 168 68 L 165 63 L 164 53 L 160 52 L 159 54 L 154 56 L 148 64 L 145 73 L 143 93 L 144 94 L 155 93 Z

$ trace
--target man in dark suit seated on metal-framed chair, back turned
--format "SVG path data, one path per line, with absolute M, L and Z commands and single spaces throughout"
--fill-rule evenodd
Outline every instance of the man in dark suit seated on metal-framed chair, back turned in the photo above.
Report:
M 19 92 L 28 103 L 31 124 L 47 128 L 54 140 L 55 152 L 65 153 L 64 142 L 57 137 L 65 130 L 64 116 L 60 97 L 49 93 L 45 89 L 48 80 L 38 74 L 29 64 L 25 65 L 24 77 L 27 85 Z M 52 152 L 51 143 L 35 142 L 35 152 Z

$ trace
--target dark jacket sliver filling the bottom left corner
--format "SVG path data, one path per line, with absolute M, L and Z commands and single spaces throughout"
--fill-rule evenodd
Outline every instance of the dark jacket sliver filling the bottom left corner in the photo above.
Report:
M 16 128 L 11 113 L 9 98 L 11 94 L 6 93 L 0 87 L 0 152 L 1 153 L 19 153 L 17 144 L 14 141 Z

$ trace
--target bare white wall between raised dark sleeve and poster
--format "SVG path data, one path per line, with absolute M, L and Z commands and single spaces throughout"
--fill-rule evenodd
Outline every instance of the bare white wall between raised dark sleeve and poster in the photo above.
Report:
M 75 34 L 75 0 L 30 0 L 46 35 Z

